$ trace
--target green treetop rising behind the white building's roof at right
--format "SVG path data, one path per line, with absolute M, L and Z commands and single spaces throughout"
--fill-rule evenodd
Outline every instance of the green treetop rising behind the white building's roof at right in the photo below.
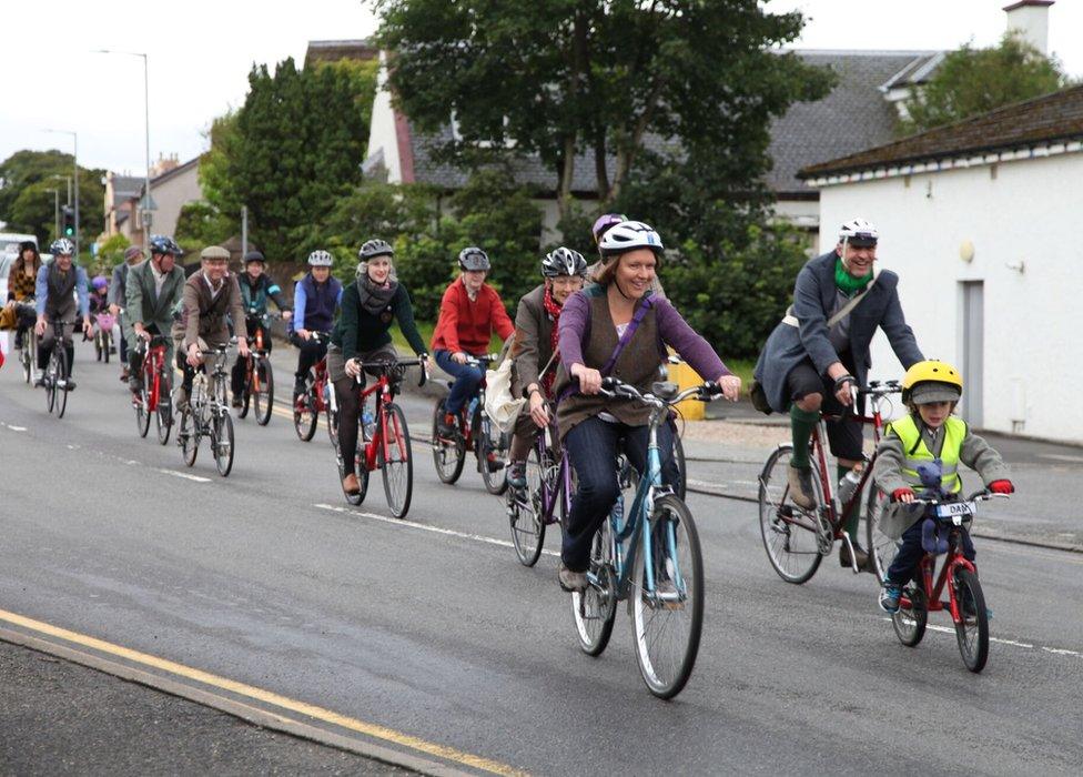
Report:
M 962 121 L 1065 85 L 1055 59 L 1011 33 L 993 48 L 968 44 L 948 54 L 929 82 L 903 102 L 908 118 L 900 121 L 900 133 Z

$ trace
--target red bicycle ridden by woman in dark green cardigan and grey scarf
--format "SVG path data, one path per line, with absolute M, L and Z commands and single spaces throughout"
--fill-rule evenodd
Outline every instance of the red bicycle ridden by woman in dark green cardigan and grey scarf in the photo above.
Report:
M 355 359 L 353 361 L 361 363 L 361 360 Z M 395 404 L 395 395 L 398 393 L 399 385 L 406 374 L 406 367 L 411 366 L 421 367 L 417 387 L 424 386 L 428 380 L 428 370 L 426 361 L 423 359 L 366 362 L 364 364 L 366 370 L 379 372 L 376 382 L 368 389 L 363 389 L 360 396 L 361 406 L 364 408 L 365 400 L 371 394 L 376 395 L 375 413 L 373 421 L 368 424 L 365 423 L 363 414 L 357 417 L 360 430 L 353 458 L 353 473 L 357 476 L 361 491 L 356 494 L 343 492 L 346 502 L 352 505 L 360 505 L 365 501 L 365 494 L 368 492 L 368 473 L 379 470 L 383 473 L 387 506 L 396 518 L 406 517 L 414 490 L 414 456 L 411 453 L 406 414 L 403 413 L 402 407 Z M 357 387 L 361 387 L 362 375 L 355 380 Z M 331 384 L 331 407 L 337 422 L 338 407 L 334 384 Z M 338 462 L 338 482 L 341 483 L 346 477 L 347 471 L 346 460 L 337 441 L 338 435 L 336 434 L 335 458 Z

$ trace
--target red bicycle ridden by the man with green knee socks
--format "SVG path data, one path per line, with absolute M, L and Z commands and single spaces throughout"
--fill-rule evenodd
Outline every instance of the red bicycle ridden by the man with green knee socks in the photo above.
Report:
M 867 389 L 853 390 L 854 415 L 864 424 L 872 426 L 872 437 L 880 443 L 883 433 L 883 416 L 890 415 L 891 394 L 902 391 L 898 381 L 872 381 Z M 870 397 L 872 412 L 869 415 L 857 414 L 859 397 Z M 888 406 L 888 413 L 884 406 Z M 831 554 L 834 542 L 841 539 L 850 549 L 850 566 L 854 574 L 861 572 L 857 564 L 853 543 L 844 531 L 850 515 L 861 509 L 861 495 L 864 485 L 872 474 L 872 465 L 877 454 L 866 457 L 864 471 L 857 484 L 852 496 L 842 504 L 837 504 L 833 486 L 834 478 L 828 473 L 827 426 L 826 421 L 837 421 L 846 416 L 821 414 L 820 422 L 812 430 L 812 442 L 809 454 L 812 458 L 812 503 L 809 509 L 798 506 L 789 498 L 789 482 L 787 473 L 790 457 L 793 455 L 792 445 L 779 445 L 768 456 L 759 477 L 759 509 L 760 535 L 763 548 L 771 566 L 787 583 L 801 584 L 809 581 L 820 567 L 824 556 Z M 872 509 L 882 500 L 879 490 L 871 488 L 866 509 L 866 523 Z

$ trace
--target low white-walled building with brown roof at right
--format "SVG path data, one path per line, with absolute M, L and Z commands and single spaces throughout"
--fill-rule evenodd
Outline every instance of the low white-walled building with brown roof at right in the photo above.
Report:
M 1083 85 L 801 175 L 822 244 L 856 215 L 880 229 L 918 344 L 963 372 L 964 420 L 1083 443 Z M 872 372 L 902 374 L 882 335 Z

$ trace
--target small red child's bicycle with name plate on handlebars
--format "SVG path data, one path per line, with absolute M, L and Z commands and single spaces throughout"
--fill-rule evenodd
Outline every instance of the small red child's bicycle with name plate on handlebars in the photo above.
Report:
M 915 647 L 925 634 L 930 612 L 948 610 L 955 626 L 955 642 L 963 664 L 973 673 L 985 667 L 989 658 L 989 610 L 978 571 L 972 562 L 963 556 L 962 535 L 969 533 L 966 524 L 978 514 L 978 503 L 994 496 L 1006 498 L 1006 494 L 990 494 L 978 491 L 963 502 L 939 498 L 919 498 L 912 504 L 927 505 L 923 522 L 930 522 L 937 532 L 948 531 L 947 546 L 938 544 L 935 537 L 928 542 L 923 526 L 922 547 L 925 551 L 919 565 L 919 578 L 903 587 L 899 599 L 899 610 L 891 615 L 891 625 L 899 642 Z M 940 576 L 933 585 L 937 556 L 947 553 Z M 941 595 L 948 588 L 948 601 Z

